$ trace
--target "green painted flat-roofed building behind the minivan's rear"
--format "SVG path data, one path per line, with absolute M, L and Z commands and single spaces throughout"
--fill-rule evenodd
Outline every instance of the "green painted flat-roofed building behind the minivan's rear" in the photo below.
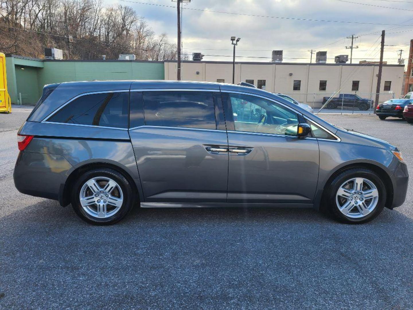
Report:
M 164 62 L 140 60 L 43 60 L 6 55 L 7 86 L 16 104 L 34 104 L 43 86 L 92 80 L 163 80 Z

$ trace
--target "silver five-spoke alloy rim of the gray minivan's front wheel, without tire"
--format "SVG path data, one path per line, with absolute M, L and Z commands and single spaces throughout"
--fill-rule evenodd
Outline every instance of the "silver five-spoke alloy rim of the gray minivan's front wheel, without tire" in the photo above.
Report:
M 336 193 L 336 204 L 346 217 L 361 218 L 373 212 L 379 200 L 374 183 L 364 178 L 345 181 Z

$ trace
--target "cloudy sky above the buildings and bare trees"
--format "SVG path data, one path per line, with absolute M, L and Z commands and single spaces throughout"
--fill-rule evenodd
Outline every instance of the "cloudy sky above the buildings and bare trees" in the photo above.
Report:
M 139 3 L 116 0 L 133 7 L 156 33 L 165 32 L 176 41 L 176 9 L 171 7 L 175 2 L 128 1 Z M 184 8 L 183 48 L 191 54 L 211 55 L 204 60 L 232 60 L 230 37 L 237 36 L 241 38 L 238 61 L 270 61 L 271 50 L 284 50 L 284 62 L 309 62 L 307 50 L 313 49 L 327 50 L 328 62 L 334 62 L 335 55 L 350 54 L 345 48 L 350 40 L 345 37 L 355 34 L 354 45 L 359 48 L 354 49 L 353 63 L 373 61 L 380 57 L 380 34 L 386 30 L 385 60 L 397 63 L 397 50 L 404 50 L 407 59 L 413 38 L 413 0 L 192 0 Z

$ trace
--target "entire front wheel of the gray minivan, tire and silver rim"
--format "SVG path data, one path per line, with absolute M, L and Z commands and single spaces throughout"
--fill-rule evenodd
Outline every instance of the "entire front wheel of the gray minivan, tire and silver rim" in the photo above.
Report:
M 341 172 L 327 188 L 325 204 L 332 216 L 344 223 L 366 223 L 377 217 L 386 204 L 386 188 L 370 169 Z

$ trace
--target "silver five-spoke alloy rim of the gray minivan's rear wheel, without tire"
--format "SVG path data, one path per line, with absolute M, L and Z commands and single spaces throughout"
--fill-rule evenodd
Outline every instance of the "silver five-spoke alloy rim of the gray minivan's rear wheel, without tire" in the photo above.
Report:
M 83 184 L 79 199 L 86 213 L 97 218 L 107 218 L 121 209 L 123 193 L 113 179 L 97 176 Z

